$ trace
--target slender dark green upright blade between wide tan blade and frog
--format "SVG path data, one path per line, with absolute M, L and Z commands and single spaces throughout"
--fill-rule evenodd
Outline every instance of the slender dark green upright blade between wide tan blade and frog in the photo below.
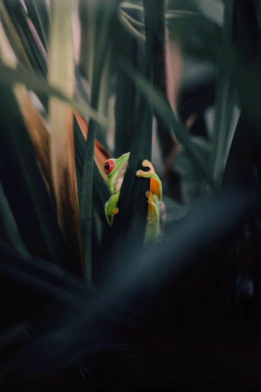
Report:
M 98 108 L 99 93 L 103 63 L 106 58 L 112 23 L 114 21 L 119 0 L 111 0 L 98 4 L 95 52 L 92 68 L 91 83 L 91 106 Z M 96 135 L 96 123 L 93 119 L 89 122 L 88 137 L 85 148 L 85 158 L 82 174 L 82 186 L 80 194 L 80 218 L 83 238 L 83 249 L 86 265 L 87 283 L 91 285 L 91 206 L 92 206 L 92 184 L 93 184 L 93 152 Z

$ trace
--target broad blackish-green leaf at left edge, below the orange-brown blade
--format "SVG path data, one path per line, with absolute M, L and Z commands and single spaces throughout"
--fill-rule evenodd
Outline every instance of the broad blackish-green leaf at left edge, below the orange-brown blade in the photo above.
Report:
M 70 269 L 50 197 L 13 93 L 0 88 L 0 181 L 28 252 Z

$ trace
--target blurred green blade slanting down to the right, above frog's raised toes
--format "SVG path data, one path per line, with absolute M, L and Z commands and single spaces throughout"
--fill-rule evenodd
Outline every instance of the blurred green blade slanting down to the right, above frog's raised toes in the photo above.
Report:
M 129 62 L 121 59 L 119 60 L 119 64 L 129 75 L 129 77 L 135 81 L 137 87 L 140 89 L 146 99 L 151 100 L 154 111 L 157 116 L 160 117 L 162 124 L 164 124 L 165 127 L 171 129 L 177 140 L 183 144 L 188 157 L 195 165 L 201 178 L 204 179 L 211 187 L 215 188 L 215 182 L 210 176 L 208 169 L 206 168 L 204 161 L 200 156 L 200 153 L 195 148 L 194 144 L 190 141 L 187 129 L 179 121 L 177 121 L 166 98 L 160 91 L 158 91 L 158 89 L 153 89 L 146 79 L 140 73 L 138 73 L 132 67 L 132 65 L 129 64 Z

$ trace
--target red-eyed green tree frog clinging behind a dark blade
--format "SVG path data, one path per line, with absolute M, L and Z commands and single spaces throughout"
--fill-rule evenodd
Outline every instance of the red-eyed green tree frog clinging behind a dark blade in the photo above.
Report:
M 107 174 L 110 189 L 110 198 L 105 204 L 105 215 L 109 226 L 112 226 L 113 217 L 118 213 L 117 202 L 123 177 L 128 163 L 129 153 L 121 155 L 118 159 L 108 159 L 104 164 L 104 171 Z M 161 181 L 156 175 L 151 163 L 145 159 L 143 167 L 148 167 L 149 171 L 137 170 L 137 177 L 150 178 L 150 188 L 146 192 L 148 198 L 147 223 L 144 242 L 154 241 L 158 237 L 160 200 L 162 197 Z

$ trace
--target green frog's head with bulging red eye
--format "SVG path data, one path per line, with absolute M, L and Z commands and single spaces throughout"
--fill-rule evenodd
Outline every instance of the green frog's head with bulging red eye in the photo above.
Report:
M 111 194 L 120 191 L 123 177 L 128 163 L 129 153 L 121 155 L 118 159 L 108 159 L 104 164 Z

